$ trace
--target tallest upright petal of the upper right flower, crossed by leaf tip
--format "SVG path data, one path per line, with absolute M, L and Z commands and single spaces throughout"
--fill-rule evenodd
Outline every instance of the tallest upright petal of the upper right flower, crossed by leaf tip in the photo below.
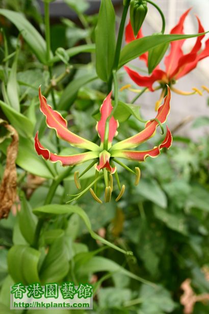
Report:
M 188 13 L 190 12 L 191 8 L 187 10 L 184 14 L 181 15 L 178 24 L 171 30 L 170 34 L 184 34 L 184 21 L 187 17 Z M 184 43 L 185 39 L 176 40 L 171 42 L 171 50 L 169 55 L 165 58 L 165 66 L 166 66 L 166 73 L 170 76 L 170 73 L 173 72 L 178 65 L 179 58 L 183 55 L 181 50 L 182 44 Z

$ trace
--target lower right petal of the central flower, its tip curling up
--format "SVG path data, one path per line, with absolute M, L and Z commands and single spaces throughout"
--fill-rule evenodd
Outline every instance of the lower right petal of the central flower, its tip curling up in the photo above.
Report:
M 166 137 L 159 146 L 156 146 L 153 149 L 144 150 L 144 151 L 115 150 L 112 152 L 111 156 L 143 162 L 148 156 L 152 158 L 158 156 L 161 153 L 161 149 L 163 147 L 166 147 L 167 149 L 169 149 L 171 147 L 171 144 L 172 144 L 172 135 L 171 135 L 171 131 L 167 127 Z

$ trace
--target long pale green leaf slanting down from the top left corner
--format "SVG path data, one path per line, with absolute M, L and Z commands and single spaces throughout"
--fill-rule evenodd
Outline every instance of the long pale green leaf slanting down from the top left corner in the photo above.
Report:
M 33 25 L 21 13 L 0 9 L 0 14 L 4 15 L 16 26 L 39 61 L 46 64 L 46 43 Z

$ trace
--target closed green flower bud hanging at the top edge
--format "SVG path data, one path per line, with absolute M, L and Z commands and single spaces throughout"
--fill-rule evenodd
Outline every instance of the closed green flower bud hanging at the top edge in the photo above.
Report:
M 145 0 L 130 1 L 130 24 L 134 35 L 137 36 L 147 14 L 147 2 Z

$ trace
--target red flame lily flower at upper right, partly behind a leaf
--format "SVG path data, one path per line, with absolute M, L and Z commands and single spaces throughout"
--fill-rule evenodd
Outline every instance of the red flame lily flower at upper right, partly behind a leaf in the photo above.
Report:
M 190 10 L 191 9 L 187 10 L 184 14 L 181 15 L 177 25 L 171 30 L 170 34 L 184 34 L 184 22 Z M 198 33 L 204 33 L 204 28 L 202 27 L 199 18 L 197 16 L 196 18 L 197 18 L 198 26 L 199 26 Z M 137 37 L 135 38 L 132 26 L 129 21 L 129 24 L 126 26 L 126 31 L 125 31 L 126 42 L 128 43 L 132 40 L 135 40 L 141 37 L 143 37 L 143 34 L 142 34 L 142 30 L 140 29 Z M 132 69 L 128 68 L 128 66 L 124 66 L 124 69 L 126 70 L 129 77 L 137 85 L 145 86 L 151 92 L 155 90 L 152 86 L 153 83 L 154 82 L 160 83 L 160 87 L 162 87 L 162 94 L 161 94 L 160 100 L 156 102 L 156 106 L 155 106 L 156 110 L 158 109 L 163 97 L 165 96 L 165 93 L 167 90 L 166 84 L 170 86 L 173 92 L 180 95 L 192 95 L 195 93 L 202 95 L 202 92 L 195 87 L 192 88 L 193 92 L 183 92 L 173 87 L 173 84 L 176 83 L 176 80 L 178 80 L 182 76 L 185 76 L 187 73 L 191 72 L 194 68 L 196 68 L 197 63 L 200 60 L 209 56 L 209 39 L 207 39 L 205 42 L 205 48 L 201 50 L 201 46 L 202 46 L 201 41 L 203 38 L 204 38 L 204 35 L 197 37 L 194 47 L 188 54 L 184 54 L 182 52 L 182 44 L 184 43 L 185 39 L 171 42 L 170 53 L 164 59 L 165 71 L 161 70 L 160 66 L 158 65 L 153 70 L 150 76 L 142 76 L 138 74 L 136 71 L 133 71 Z M 140 59 L 143 60 L 147 65 L 148 52 L 141 55 Z M 207 87 L 202 86 L 202 88 L 208 92 Z M 159 89 L 159 87 L 157 87 L 156 89 Z

